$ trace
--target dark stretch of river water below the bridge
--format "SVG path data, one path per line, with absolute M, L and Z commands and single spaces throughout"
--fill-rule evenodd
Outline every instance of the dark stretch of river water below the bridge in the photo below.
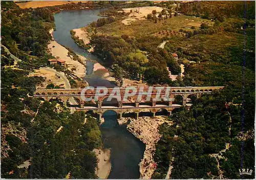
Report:
M 139 163 L 145 145 L 126 130 L 126 125 L 118 125 L 114 111 L 106 111 L 102 117 L 102 142 L 104 148 L 111 149 L 112 171 L 109 178 L 139 178 Z

